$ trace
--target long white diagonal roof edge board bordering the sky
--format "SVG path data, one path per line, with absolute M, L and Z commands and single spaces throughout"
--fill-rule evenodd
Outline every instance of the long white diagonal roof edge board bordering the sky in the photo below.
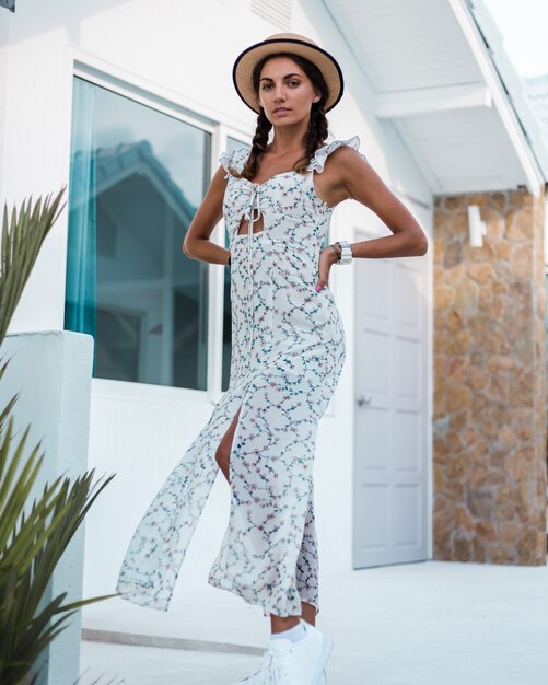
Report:
M 479 70 L 491 92 L 493 104 L 497 107 L 502 125 L 506 130 L 510 142 L 515 150 L 527 181 L 527 188 L 532 195 L 539 197 L 545 185 L 543 171 L 535 159 L 534 152 L 523 132 L 520 119 L 508 100 L 501 79 L 493 61 L 486 48 L 481 34 L 467 0 L 448 0 L 456 20 L 463 31 L 466 42 Z

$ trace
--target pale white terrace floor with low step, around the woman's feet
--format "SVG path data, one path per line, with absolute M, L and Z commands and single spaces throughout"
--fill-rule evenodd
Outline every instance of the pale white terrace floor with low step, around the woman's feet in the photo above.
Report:
M 428 561 L 322 578 L 328 685 L 546 685 L 548 567 Z M 179 579 L 167 613 L 114 599 L 84 629 L 264 647 L 257 607 Z M 79 685 L 229 685 L 260 655 L 83 641 Z M 230 649 L 226 647 L 226 649 Z M 243 648 L 241 651 L 245 651 Z

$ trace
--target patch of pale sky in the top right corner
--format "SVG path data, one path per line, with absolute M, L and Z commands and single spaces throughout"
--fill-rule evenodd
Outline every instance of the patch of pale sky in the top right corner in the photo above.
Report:
M 515 69 L 524 77 L 548 73 L 548 2 L 483 0 L 504 38 Z

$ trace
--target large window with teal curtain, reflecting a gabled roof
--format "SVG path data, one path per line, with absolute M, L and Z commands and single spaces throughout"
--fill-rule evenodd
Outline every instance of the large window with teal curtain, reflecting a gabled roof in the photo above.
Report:
M 65 327 L 96 378 L 207 390 L 208 264 L 182 244 L 211 133 L 78 77 L 72 116 Z

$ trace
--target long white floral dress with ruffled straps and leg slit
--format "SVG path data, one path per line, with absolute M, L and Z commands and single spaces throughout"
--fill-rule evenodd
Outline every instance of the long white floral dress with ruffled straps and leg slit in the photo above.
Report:
M 230 384 L 139 522 L 117 592 L 167 611 L 196 524 L 219 473 L 215 451 L 238 408 L 230 455 L 226 532 L 208 582 L 265 616 L 318 606 L 313 464 L 317 425 L 339 381 L 346 346 L 329 288 L 316 292 L 318 258 L 331 209 L 314 173 L 340 146 L 319 149 L 310 173 L 284 172 L 263 184 L 242 171 L 247 148 L 224 152 L 223 214 L 230 236 L 232 362 Z M 253 228 L 261 217 L 263 228 Z M 238 235 L 242 218 L 247 232 Z

